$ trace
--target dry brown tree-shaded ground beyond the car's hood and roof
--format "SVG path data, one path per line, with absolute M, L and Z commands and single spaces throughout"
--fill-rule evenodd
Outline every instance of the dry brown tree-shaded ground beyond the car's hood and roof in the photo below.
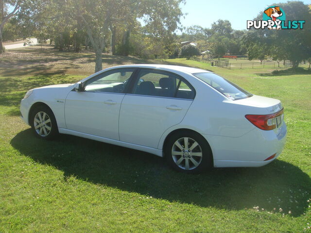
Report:
M 103 54 L 103 69 L 118 65 L 151 63 L 131 56 Z M 58 51 L 50 46 L 7 50 L 0 55 L 1 76 L 38 74 L 90 75 L 95 70 L 95 54 L 90 51 Z

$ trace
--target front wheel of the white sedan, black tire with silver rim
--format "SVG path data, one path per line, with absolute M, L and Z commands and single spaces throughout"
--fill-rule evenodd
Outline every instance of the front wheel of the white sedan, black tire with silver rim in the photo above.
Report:
M 51 140 L 58 135 L 58 127 L 52 110 L 44 105 L 36 106 L 30 114 L 30 124 L 35 136 Z

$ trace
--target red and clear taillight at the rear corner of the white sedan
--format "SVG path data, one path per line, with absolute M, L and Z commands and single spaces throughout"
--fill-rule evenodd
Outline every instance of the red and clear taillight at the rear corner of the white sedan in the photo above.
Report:
M 277 113 L 268 114 L 268 115 L 245 115 L 246 119 L 248 119 L 253 125 L 258 127 L 261 130 L 273 130 L 277 125 L 277 116 L 281 116 L 283 114 L 283 109 L 278 111 Z M 283 119 L 281 119 L 283 120 Z

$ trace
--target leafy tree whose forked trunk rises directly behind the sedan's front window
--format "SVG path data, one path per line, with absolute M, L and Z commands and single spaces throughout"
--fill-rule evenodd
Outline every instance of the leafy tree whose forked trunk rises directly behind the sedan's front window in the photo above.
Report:
M 102 52 L 110 26 L 133 17 L 143 18 L 150 37 L 173 32 L 182 16 L 179 4 L 185 0 L 79 0 L 69 1 L 76 17 L 84 22 L 86 33 L 95 50 L 95 72 L 102 69 Z

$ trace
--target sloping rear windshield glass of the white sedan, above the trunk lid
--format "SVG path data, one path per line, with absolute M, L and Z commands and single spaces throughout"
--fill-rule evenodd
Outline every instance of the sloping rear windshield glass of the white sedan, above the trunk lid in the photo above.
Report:
M 253 96 L 238 85 L 214 73 L 194 73 L 195 77 L 207 83 L 230 100 L 241 100 Z

